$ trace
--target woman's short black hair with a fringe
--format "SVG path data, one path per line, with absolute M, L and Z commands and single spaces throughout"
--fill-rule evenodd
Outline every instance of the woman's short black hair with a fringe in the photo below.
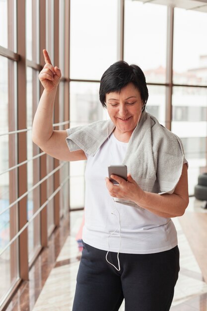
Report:
M 148 89 L 144 73 L 137 65 L 129 65 L 124 61 L 118 61 L 111 65 L 101 77 L 99 98 L 102 106 L 106 108 L 106 94 L 120 92 L 130 82 L 138 88 L 143 107 L 145 107 L 148 99 Z

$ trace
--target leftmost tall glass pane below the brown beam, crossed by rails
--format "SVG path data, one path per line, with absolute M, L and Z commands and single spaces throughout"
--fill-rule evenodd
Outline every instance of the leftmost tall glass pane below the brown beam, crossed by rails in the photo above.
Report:
M 18 230 L 16 134 L 16 67 L 0 56 L 0 301 L 18 276 L 18 240 L 7 246 Z

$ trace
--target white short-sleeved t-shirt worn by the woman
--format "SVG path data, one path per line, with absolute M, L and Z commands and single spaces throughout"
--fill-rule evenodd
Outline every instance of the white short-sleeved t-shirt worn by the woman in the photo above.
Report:
M 121 253 L 146 254 L 161 252 L 177 245 L 177 232 L 170 218 L 159 217 L 137 205 L 116 203 L 106 187 L 108 165 L 123 164 L 128 143 L 118 141 L 112 133 L 95 156 L 87 156 L 85 169 L 85 225 L 82 239 L 85 243 Z M 130 173 L 130 172 L 128 172 Z M 117 208 L 117 210 L 115 209 Z M 116 214 L 113 215 L 111 213 Z

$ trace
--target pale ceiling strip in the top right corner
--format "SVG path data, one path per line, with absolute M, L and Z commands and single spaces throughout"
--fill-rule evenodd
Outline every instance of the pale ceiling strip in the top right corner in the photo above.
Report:
M 133 0 L 135 1 L 135 0 Z M 136 0 L 143 3 L 156 3 L 188 10 L 207 12 L 207 0 Z

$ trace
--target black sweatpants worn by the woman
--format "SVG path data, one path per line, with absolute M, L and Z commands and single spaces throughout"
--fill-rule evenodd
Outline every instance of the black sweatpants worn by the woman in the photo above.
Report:
M 178 246 L 154 254 L 119 254 L 83 243 L 72 311 L 169 311 L 179 272 Z M 117 253 L 108 260 L 118 267 Z

